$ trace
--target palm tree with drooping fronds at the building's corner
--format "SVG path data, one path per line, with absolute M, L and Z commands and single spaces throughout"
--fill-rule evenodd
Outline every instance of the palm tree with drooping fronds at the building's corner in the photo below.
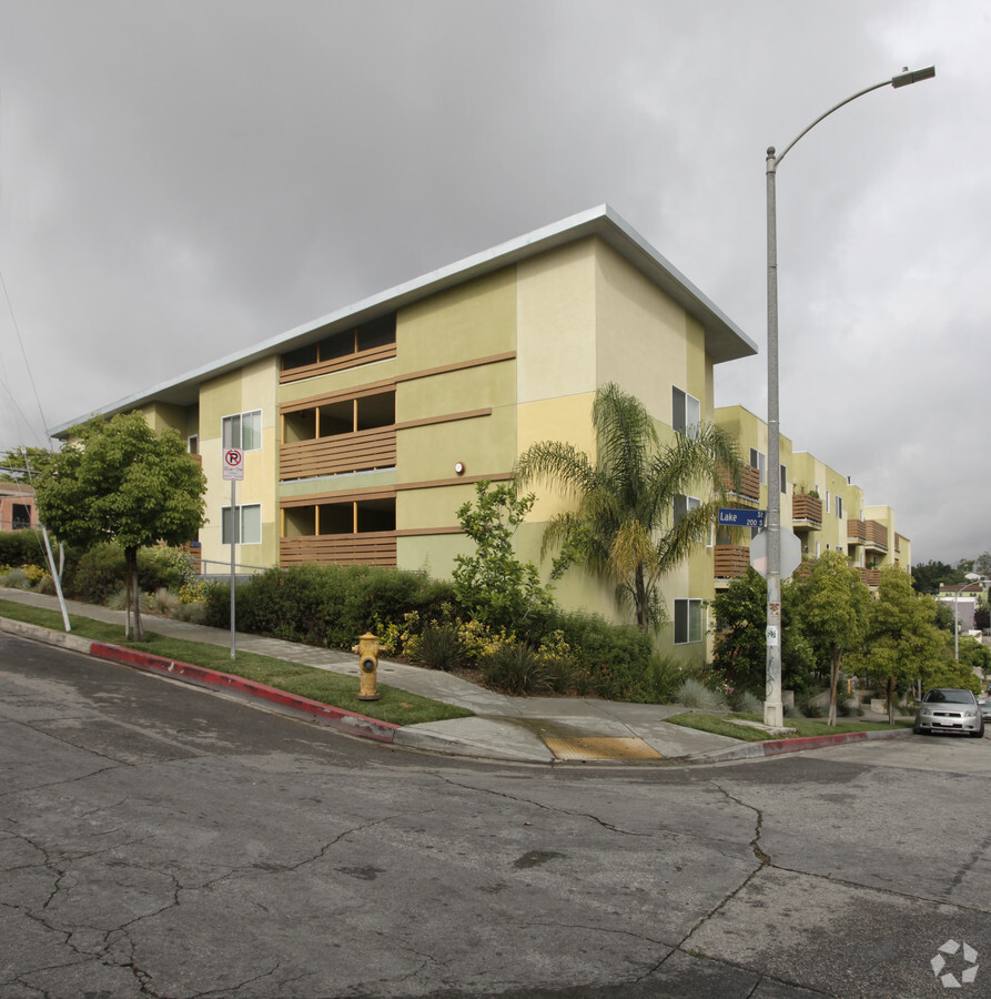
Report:
M 665 619 L 658 583 L 716 521 L 722 475 L 739 478 L 737 445 L 721 427 L 701 424 L 661 446 L 644 404 L 611 383 L 596 393 L 591 422 L 594 458 L 544 441 L 520 455 L 516 480 L 556 485 L 577 501 L 544 529 L 542 554 L 563 552 L 555 575 L 584 563 L 615 584 L 617 602 L 633 609 L 639 627 L 656 628 Z M 707 498 L 689 508 L 692 492 Z

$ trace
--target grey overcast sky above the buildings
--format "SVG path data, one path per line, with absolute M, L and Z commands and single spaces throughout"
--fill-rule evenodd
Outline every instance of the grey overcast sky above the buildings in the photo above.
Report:
M 0 0 L 0 447 L 601 203 L 759 345 L 781 431 L 991 548 L 987 0 Z

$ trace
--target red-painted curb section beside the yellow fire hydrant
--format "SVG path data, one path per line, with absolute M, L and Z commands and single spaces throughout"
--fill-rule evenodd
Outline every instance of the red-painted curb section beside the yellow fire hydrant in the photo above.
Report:
M 377 739 L 380 743 L 392 743 L 395 739 L 398 725 L 391 722 L 378 722 L 376 718 L 368 718 L 365 715 L 357 715 L 354 712 L 345 712 L 343 708 L 332 707 L 327 704 L 321 704 L 318 700 L 311 700 L 309 697 L 300 697 L 296 694 L 289 694 L 285 690 L 279 690 L 275 687 L 269 687 L 265 684 L 259 684 L 254 680 L 246 680 L 240 676 L 233 676 L 230 673 L 221 673 L 218 669 L 206 669 L 203 666 L 193 666 L 191 663 L 178 663 L 173 659 L 165 659 L 162 656 L 152 656 L 148 653 L 135 652 L 132 648 L 123 648 L 119 645 L 107 645 L 102 642 L 94 642 L 90 646 L 90 654 L 101 659 L 109 659 L 112 663 L 122 663 L 125 666 L 134 666 L 138 669 L 144 669 L 149 673 L 160 673 L 165 676 L 181 677 L 193 684 L 202 684 L 208 687 L 220 687 L 225 690 L 236 690 L 240 694 L 247 694 L 251 697 L 257 697 L 262 700 L 269 700 L 273 704 L 280 704 L 283 707 L 291 707 L 296 710 L 305 712 L 313 715 L 318 722 L 336 728 L 351 735 L 363 736 L 368 739 Z

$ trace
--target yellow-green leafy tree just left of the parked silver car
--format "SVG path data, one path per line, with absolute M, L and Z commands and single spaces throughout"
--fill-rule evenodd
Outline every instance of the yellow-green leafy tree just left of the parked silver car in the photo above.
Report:
M 882 569 L 878 598 L 867 610 L 863 647 L 851 658 L 858 673 L 886 684 L 889 722 L 894 722 L 896 687 L 936 673 L 946 647 L 946 635 L 936 625 L 934 601 L 920 597 L 897 566 Z

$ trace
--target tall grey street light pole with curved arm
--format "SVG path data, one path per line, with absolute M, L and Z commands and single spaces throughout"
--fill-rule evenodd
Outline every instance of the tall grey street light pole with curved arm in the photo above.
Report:
M 778 411 L 778 234 L 776 178 L 778 165 L 791 148 L 823 118 L 850 101 L 881 87 L 906 87 L 936 75 L 936 67 L 909 70 L 906 67 L 890 80 L 882 80 L 835 104 L 805 128 L 778 155 L 767 151 L 767 693 L 764 720 L 780 727 L 785 723 L 781 702 L 781 427 Z

